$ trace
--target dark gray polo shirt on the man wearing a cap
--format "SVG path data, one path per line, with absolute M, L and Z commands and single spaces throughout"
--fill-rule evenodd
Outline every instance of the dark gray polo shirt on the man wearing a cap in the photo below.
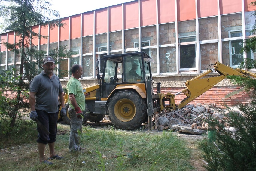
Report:
M 35 76 L 29 83 L 29 91 L 35 94 L 35 109 L 48 113 L 58 112 L 59 93 L 63 93 L 63 89 L 59 77 L 53 73 L 50 79 L 44 71 Z

